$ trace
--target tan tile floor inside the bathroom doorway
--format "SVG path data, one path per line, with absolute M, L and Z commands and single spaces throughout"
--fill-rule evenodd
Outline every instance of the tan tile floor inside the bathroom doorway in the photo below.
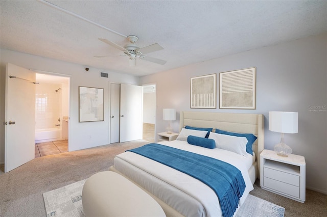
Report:
M 35 143 L 35 157 L 68 152 L 68 140 Z

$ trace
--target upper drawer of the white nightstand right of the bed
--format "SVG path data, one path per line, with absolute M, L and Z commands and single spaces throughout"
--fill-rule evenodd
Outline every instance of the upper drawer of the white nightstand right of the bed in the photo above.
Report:
M 264 167 L 264 177 L 285 182 L 291 185 L 300 186 L 300 177 L 297 175 L 285 173 L 278 170 L 273 170 Z M 266 184 L 265 184 L 266 186 Z

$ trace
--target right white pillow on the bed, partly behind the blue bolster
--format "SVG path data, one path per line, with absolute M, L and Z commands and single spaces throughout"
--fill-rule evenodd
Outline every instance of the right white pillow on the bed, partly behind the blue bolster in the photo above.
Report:
M 246 144 L 248 141 L 245 137 L 235 137 L 233 135 L 210 132 L 209 139 L 215 140 L 216 148 L 232 151 L 243 156 L 247 156 L 248 154 L 246 152 Z

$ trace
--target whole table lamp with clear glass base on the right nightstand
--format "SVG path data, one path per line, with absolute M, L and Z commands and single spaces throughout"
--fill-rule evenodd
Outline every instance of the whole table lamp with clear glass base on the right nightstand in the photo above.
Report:
M 274 146 L 279 156 L 292 153 L 291 147 L 284 143 L 284 133 L 297 133 L 297 117 L 297 112 L 269 112 L 269 130 L 282 133 L 281 142 Z

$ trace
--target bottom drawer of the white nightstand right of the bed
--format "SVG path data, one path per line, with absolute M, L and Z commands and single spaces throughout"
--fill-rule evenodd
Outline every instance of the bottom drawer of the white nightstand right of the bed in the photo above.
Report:
M 300 188 L 297 186 L 273 180 L 267 177 L 264 178 L 264 183 L 265 187 L 268 187 L 277 192 L 281 192 L 283 194 L 287 194 L 296 198 L 300 197 Z

